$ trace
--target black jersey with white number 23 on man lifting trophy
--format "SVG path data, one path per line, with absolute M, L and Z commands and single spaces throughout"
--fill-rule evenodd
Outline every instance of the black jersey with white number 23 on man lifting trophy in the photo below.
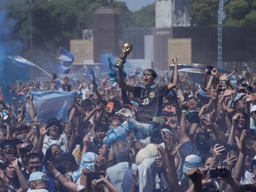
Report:
M 137 121 L 153 124 L 153 117 L 161 115 L 163 97 L 169 93 L 168 86 L 154 86 L 153 88 L 134 88 L 134 97 L 139 98 Z

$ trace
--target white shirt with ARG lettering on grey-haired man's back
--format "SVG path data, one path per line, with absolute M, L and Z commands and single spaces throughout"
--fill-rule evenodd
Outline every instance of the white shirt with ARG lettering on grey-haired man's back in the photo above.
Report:
M 124 179 L 124 173 L 129 169 L 129 162 L 119 162 L 106 170 L 109 182 L 111 182 L 116 188 L 122 192 L 122 183 Z M 132 170 L 137 170 L 137 165 L 132 164 Z

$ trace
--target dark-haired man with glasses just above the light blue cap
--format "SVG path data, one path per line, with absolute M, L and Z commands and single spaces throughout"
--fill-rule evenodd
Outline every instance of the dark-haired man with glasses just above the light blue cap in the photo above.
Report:
M 23 172 L 22 172 L 25 179 L 27 180 L 27 182 L 29 181 L 31 173 L 41 172 L 43 170 L 43 163 L 42 163 L 41 159 L 42 159 L 42 157 L 40 156 L 40 154 L 38 154 L 36 152 L 32 152 L 31 154 L 29 154 L 27 156 L 27 159 L 25 162 L 26 169 L 23 170 Z M 46 189 L 49 192 L 56 191 L 53 178 L 48 178 L 48 182 L 46 184 L 47 184 Z

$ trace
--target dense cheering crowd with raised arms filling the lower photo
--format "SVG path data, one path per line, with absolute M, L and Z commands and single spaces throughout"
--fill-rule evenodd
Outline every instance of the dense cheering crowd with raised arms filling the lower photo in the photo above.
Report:
M 256 75 L 207 68 L 199 85 L 173 65 L 2 86 L 0 192 L 256 191 Z M 80 91 L 67 122 L 38 119 L 30 92 L 49 90 Z

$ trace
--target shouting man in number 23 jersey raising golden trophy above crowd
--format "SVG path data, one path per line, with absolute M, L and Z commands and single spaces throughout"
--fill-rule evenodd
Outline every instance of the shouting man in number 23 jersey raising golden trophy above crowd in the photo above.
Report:
M 119 87 L 133 93 L 134 97 L 139 98 L 136 120 L 129 119 L 127 122 L 127 128 L 130 131 L 136 129 L 143 135 L 152 136 L 155 131 L 154 123 L 157 122 L 157 117 L 161 116 L 163 98 L 169 93 L 169 91 L 173 90 L 173 88 L 177 86 L 177 58 L 172 58 L 174 64 L 174 76 L 172 83 L 168 83 L 168 85 L 165 86 L 159 86 L 158 83 L 155 82 L 157 77 L 156 72 L 152 69 L 145 69 L 142 77 L 144 86 L 134 87 L 127 85 L 124 81 L 124 77 L 122 76 L 122 69 L 124 68 L 124 63 L 126 62 L 126 58 L 130 51 L 132 51 L 132 44 L 125 43 L 122 46 L 122 54 L 116 62 L 116 67 L 119 69 Z

